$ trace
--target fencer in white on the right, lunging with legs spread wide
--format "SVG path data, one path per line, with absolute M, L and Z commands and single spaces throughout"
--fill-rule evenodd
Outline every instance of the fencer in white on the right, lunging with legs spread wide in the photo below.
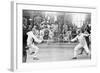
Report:
M 78 40 L 79 41 L 79 44 L 75 46 L 74 48 L 74 57 L 73 59 L 77 59 L 77 51 L 81 48 L 84 48 L 84 50 L 86 51 L 86 53 L 88 55 L 90 55 L 90 50 L 88 49 L 88 46 L 87 46 L 87 43 L 86 43 L 86 40 L 85 40 L 85 36 L 89 36 L 89 34 L 85 34 L 85 33 L 81 33 L 81 30 L 79 29 L 77 31 L 78 35 L 72 39 L 71 41 L 75 41 L 75 40 Z

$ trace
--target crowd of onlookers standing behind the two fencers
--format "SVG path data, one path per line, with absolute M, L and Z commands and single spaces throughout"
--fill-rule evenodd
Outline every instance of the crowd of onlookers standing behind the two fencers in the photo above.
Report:
M 60 24 L 50 23 L 49 20 L 43 19 L 40 23 L 34 23 L 32 19 L 23 18 L 23 38 L 28 31 L 31 31 L 33 28 L 38 31 L 39 37 L 44 41 L 52 41 L 52 42 L 69 42 L 73 39 L 77 34 L 77 26 L 69 26 L 67 24 L 63 24 L 62 27 Z M 83 24 L 81 30 L 87 31 L 90 34 L 91 25 Z M 24 41 L 24 40 L 23 40 Z M 25 42 L 25 41 L 24 41 Z

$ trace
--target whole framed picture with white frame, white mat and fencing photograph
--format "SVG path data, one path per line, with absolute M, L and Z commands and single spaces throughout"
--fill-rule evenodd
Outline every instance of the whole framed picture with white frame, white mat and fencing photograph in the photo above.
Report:
M 14 2 L 12 70 L 96 65 L 96 8 Z

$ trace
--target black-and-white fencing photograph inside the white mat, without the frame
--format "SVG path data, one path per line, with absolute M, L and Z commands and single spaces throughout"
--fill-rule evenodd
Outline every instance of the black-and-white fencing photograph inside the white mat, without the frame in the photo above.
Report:
M 22 10 L 22 62 L 91 60 L 91 13 Z

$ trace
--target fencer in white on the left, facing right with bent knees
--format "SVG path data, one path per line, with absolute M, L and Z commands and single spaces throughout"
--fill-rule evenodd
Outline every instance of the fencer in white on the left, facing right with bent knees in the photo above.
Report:
M 34 29 L 32 31 L 27 32 L 27 35 L 28 35 L 27 47 L 29 48 L 28 54 L 32 54 L 34 58 L 37 57 L 38 50 L 39 50 L 39 48 L 35 45 L 34 41 L 37 43 L 42 42 L 42 40 L 37 38 L 37 36 L 35 34 L 36 34 L 36 32 Z

